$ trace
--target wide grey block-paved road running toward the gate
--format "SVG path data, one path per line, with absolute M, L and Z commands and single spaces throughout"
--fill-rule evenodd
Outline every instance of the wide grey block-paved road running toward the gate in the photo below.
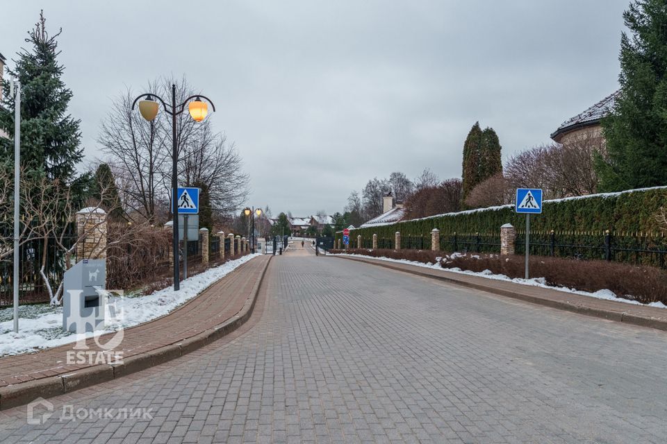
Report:
M 43 425 L 0 412 L 0 441 L 664 443 L 666 368 L 665 332 L 295 252 L 231 336 Z

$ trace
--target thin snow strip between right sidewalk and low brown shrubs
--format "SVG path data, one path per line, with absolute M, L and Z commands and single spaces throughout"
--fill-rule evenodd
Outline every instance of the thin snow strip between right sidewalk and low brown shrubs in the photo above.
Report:
M 454 254 L 456 254 L 456 253 L 454 253 Z M 664 305 L 662 302 L 651 302 L 650 304 L 642 304 L 641 302 L 637 302 L 636 300 L 619 298 L 618 296 L 616 296 L 616 294 L 613 291 L 610 291 L 610 290 L 599 290 L 599 291 L 595 291 L 595 293 L 591 293 L 589 291 L 579 291 L 577 289 L 568 289 L 567 287 L 551 287 L 551 286 L 546 284 L 544 278 L 532 278 L 532 279 L 514 278 L 513 279 L 513 278 L 509 278 L 509 276 L 506 276 L 506 275 L 495 275 L 490 270 L 485 270 L 485 271 L 481 271 L 481 272 L 477 273 L 475 271 L 461 270 L 461 268 L 443 268 L 442 266 L 440 266 L 440 263 L 439 263 L 440 258 L 438 258 L 438 263 L 436 263 L 436 264 L 425 264 L 424 262 L 409 261 L 408 259 L 392 259 L 390 257 L 372 257 L 372 256 L 366 256 L 366 255 L 348 255 L 348 254 L 337 254 L 337 256 L 368 257 L 369 259 L 378 259 L 378 260 L 386 261 L 386 262 L 398 262 L 400 264 L 411 264 L 411 265 L 416 265 L 416 266 L 422 266 L 422 267 L 425 267 L 425 268 L 432 268 L 434 270 L 442 271 L 443 273 L 459 273 L 459 274 L 464 274 L 464 275 L 473 275 L 473 276 L 479 276 L 481 278 L 486 278 L 486 279 L 505 280 L 505 281 L 509 281 L 509 282 L 514 282 L 515 284 L 531 285 L 533 287 L 543 287 L 545 289 L 564 291 L 566 293 L 573 293 L 573 294 L 578 294 L 578 295 L 581 295 L 581 296 L 589 296 L 591 298 L 615 300 L 616 302 L 625 302 L 626 304 L 642 305 L 644 307 L 667 308 L 667 305 Z

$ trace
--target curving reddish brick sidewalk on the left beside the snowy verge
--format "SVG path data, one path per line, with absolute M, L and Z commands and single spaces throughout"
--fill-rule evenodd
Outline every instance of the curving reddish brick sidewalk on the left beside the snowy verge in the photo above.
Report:
M 179 343 L 235 317 L 247 305 L 249 298 L 254 298 L 269 260 L 268 256 L 252 259 L 172 313 L 126 329 L 120 348 L 114 352 L 123 352 L 124 361 L 131 361 L 132 357 Z M 105 338 L 110 336 L 101 336 L 100 342 L 105 343 Z M 99 350 L 93 339 L 86 343 L 90 350 Z M 39 379 L 93 368 L 88 364 L 66 364 L 67 352 L 73 347 L 74 343 L 70 343 L 30 354 L 0 358 L 0 391 L 10 384 L 37 382 Z M 110 370 L 113 377 L 113 369 Z

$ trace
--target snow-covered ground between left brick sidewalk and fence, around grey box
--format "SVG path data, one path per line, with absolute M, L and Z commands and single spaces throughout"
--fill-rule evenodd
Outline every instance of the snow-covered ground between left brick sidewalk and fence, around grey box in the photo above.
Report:
M 181 289 L 172 287 L 156 291 L 148 296 L 131 295 L 117 298 L 117 309 L 122 310 L 122 319 L 93 336 L 113 332 L 120 328 L 132 327 L 169 314 L 183 303 L 197 296 L 213 282 L 220 280 L 231 271 L 254 257 L 247 255 L 210 268 L 181 282 Z M 110 303 L 115 299 L 110 297 Z M 18 355 L 41 348 L 51 348 L 76 341 L 77 335 L 63 332 L 63 308 L 49 307 L 48 304 L 24 305 L 19 307 L 19 332 L 13 332 L 13 309 L 0 310 L 0 356 Z

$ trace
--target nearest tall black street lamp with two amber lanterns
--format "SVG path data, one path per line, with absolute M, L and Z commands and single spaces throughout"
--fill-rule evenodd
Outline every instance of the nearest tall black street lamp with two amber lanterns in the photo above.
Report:
M 142 97 L 145 97 L 144 100 L 140 101 Z M 163 99 L 160 99 L 159 96 L 156 94 L 141 94 L 138 96 L 134 101 L 132 102 L 132 109 L 134 109 L 134 105 L 136 105 L 137 102 L 139 102 L 139 112 L 141 113 L 142 117 L 146 119 L 147 121 L 153 121 L 157 115 L 158 115 L 158 110 L 160 108 L 160 105 L 157 101 L 154 100 L 158 99 L 160 103 L 162 103 L 163 107 L 165 108 L 165 112 L 167 114 L 170 114 L 172 117 L 172 213 L 173 213 L 173 223 L 174 225 L 172 226 L 174 230 L 174 241 L 173 241 L 173 248 L 174 248 L 174 291 L 178 291 L 181 287 L 180 285 L 180 274 L 179 274 L 179 212 L 176 207 L 176 202 L 178 201 L 178 192 L 179 192 L 179 187 L 178 187 L 178 169 L 176 169 L 176 163 L 179 160 L 179 153 L 178 153 L 178 146 L 176 144 L 176 116 L 179 114 L 183 114 L 183 111 L 186 110 L 186 104 L 188 105 L 188 112 L 190 113 L 190 117 L 192 117 L 193 120 L 197 122 L 201 122 L 204 119 L 206 119 L 206 115 L 208 114 L 208 103 L 211 103 L 211 108 L 213 108 L 213 111 L 215 111 L 215 105 L 213 105 L 213 102 L 211 99 L 208 99 L 206 96 L 202 96 L 201 94 L 197 94 L 195 96 L 190 96 L 188 99 L 184 100 L 183 103 L 180 105 L 176 105 L 176 85 L 172 85 L 172 103 L 167 104 Z M 201 101 L 201 99 L 205 99 L 208 101 L 208 103 Z M 189 103 L 188 103 L 189 102 Z M 185 248 L 188 248 L 185 246 Z

